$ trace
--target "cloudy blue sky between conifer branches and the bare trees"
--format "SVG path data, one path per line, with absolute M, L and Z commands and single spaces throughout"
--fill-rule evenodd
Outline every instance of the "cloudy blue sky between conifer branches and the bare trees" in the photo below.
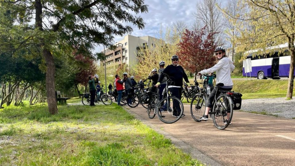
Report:
M 193 24 L 193 14 L 196 10 L 196 3 L 199 0 L 145 0 L 148 4 L 148 13 L 140 14 L 144 19 L 145 28 L 139 30 L 133 27 L 133 36 L 152 36 L 159 38 L 160 25 L 162 30 L 171 26 L 173 22 L 185 21 L 188 25 Z M 126 35 L 126 34 L 125 34 Z M 115 36 L 115 42 L 122 40 L 123 37 Z M 103 47 L 98 46 L 95 52 L 101 51 Z

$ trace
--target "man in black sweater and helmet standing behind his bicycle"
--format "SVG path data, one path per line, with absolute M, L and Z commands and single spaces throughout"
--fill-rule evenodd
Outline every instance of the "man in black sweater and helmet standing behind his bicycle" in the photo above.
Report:
M 187 78 L 187 74 L 184 72 L 184 69 L 178 64 L 178 60 L 179 57 L 177 55 L 173 55 L 171 57 L 172 60 L 172 64 L 168 65 L 164 70 L 163 73 L 167 74 L 171 81 L 174 82 L 174 86 L 179 86 L 179 88 L 170 88 L 169 91 L 172 93 L 172 96 L 175 96 L 177 98 L 181 98 L 181 91 L 182 91 L 182 85 L 183 85 L 183 79 L 184 81 L 187 82 L 187 85 L 190 86 L 188 78 Z M 160 82 L 163 80 L 163 78 L 165 77 L 164 74 L 161 74 L 159 79 L 158 79 L 158 83 L 156 84 L 156 87 L 158 87 L 160 85 Z M 173 116 L 174 117 L 178 117 L 178 116 L 185 116 L 185 114 L 180 115 L 180 106 L 177 105 L 174 101 L 173 101 L 173 106 L 175 107 L 175 110 L 177 111 L 173 111 Z

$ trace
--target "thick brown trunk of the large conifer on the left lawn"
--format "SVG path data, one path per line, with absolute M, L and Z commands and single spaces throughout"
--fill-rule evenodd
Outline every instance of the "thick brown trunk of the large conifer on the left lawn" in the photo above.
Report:
M 42 26 L 42 4 L 41 0 L 35 1 L 35 22 L 36 26 L 39 28 L 39 30 L 43 31 Z M 41 47 L 43 49 L 43 57 L 45 59 L 45 63 L 47 66 L 46 71 L 46 93 L 47 93 L 47 103 L 48 103 L 48 109 L 51 114 L 55 114 L 58 112 L 57 110 L 57 103 L 55 98 L 55 85 L 54 85 L 54 74 L 55 74 L 55 65 L 53 56 L 46 48 L 46 44 L 44 43 L 43 38 L 41 38 Z

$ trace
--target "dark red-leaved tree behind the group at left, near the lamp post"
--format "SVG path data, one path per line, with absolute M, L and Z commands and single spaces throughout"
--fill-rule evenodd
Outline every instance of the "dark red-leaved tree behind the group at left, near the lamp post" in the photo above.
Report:
M 76 85 L 84 85 L 86 93 L 89 81 L 88 77 L 89 75 L 94 75 L 97 72 L 97 66 L 94 59 L 85 57 L 82 54 L 76 55 L 75 60 L 78 62 L 78 66 L 80 66 L 78 68 L 79 73 L 76 73 Z

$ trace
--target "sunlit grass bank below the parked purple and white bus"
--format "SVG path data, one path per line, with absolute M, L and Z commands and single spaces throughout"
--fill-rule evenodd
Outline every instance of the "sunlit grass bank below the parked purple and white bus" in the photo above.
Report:
M 200 82 L 201 80 L 197 80 Z M 194 82 L 190 80 L 190 82 Z M 243 94 L 242 99 L 286 97 L 288 80 L 233 80 L 233 91 Z M 294 95 L 294 93 L 293 93 Z

